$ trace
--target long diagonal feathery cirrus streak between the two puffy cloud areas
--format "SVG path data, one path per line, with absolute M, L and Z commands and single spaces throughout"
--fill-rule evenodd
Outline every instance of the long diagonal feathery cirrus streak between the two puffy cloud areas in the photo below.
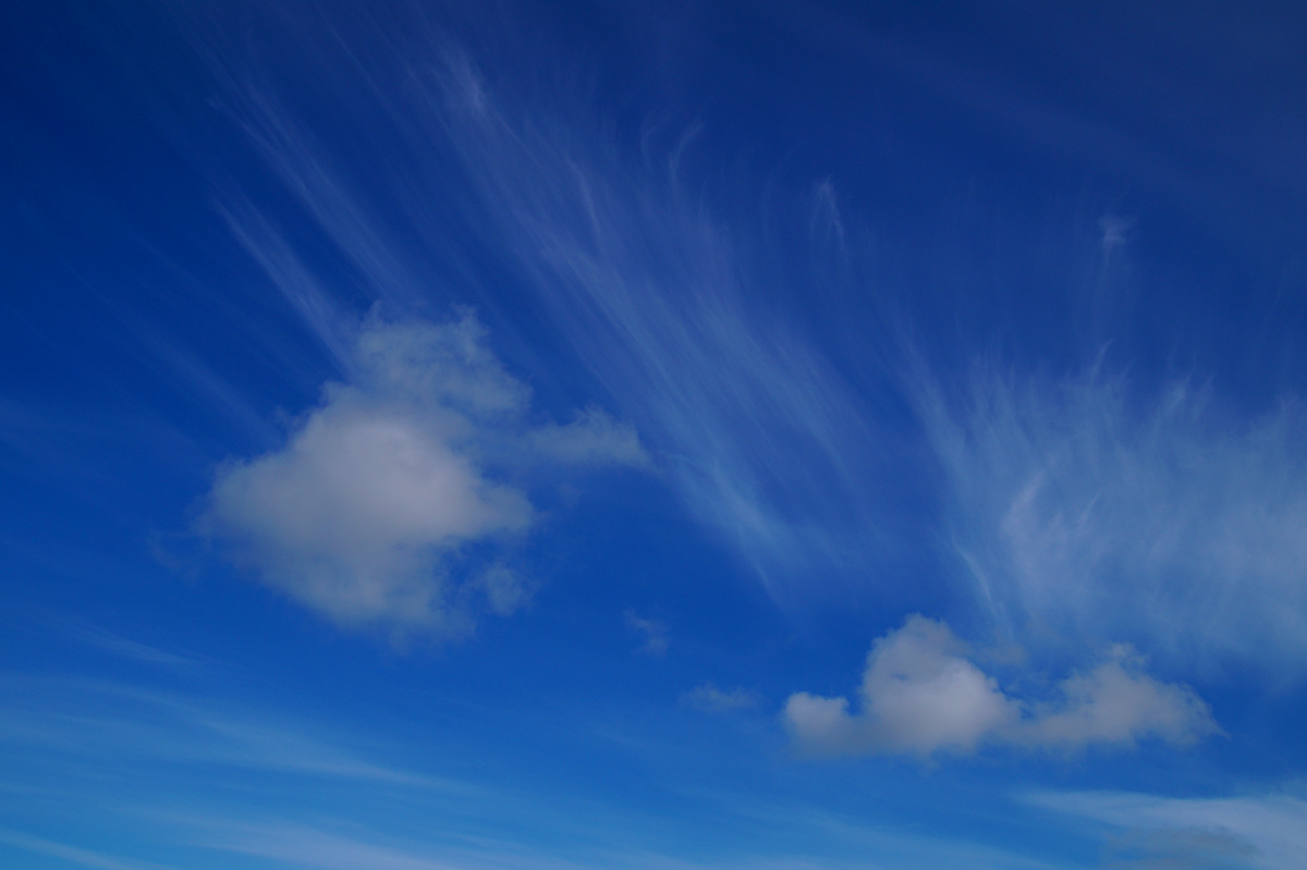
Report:
M 431 86 L 525 289 L 667 452 L 686 506 L 769 579 L 865 555 L 881 533 L 859 479 L 870 418 L 769 308 L 766 277 L 682 189 L 676 154 L 623 159 L 604 137 L 540 123 L 459 55 Z

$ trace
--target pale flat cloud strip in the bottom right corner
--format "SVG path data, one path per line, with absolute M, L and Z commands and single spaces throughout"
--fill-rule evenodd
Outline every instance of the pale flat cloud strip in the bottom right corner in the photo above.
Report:
M 1112 866 L 1307 866 L 1307 802 L 1291 794 L 1172 798 L 1120 792 L 1043 792 L 1027 802 L 1093 819 L 1114 833 Z M 1170 861 L 1170 863 L 1167 862 Z

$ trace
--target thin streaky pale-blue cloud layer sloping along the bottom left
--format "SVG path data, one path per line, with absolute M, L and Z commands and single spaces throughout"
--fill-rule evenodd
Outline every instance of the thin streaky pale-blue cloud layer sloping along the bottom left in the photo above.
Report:
M 674 801 L 631 809 L 613 802 L 608 765 L 578 771 L 579 788 L 559 786 L 553 776 L 536 780 L 537 762 L 528 762 L 525 779 L 486 777 L 481 772 L 494 771 L 497 760 L 476 751 L 459 760 L 439 725 L 401 735 L 378 729 L 372 716 L 328 724 L 320 713 L 306 718 L 230 696 L 74 679 L 3 682 L 0 799 L 14 819 L 8 827 L 29 819 L 41 822 L 34 831 L 93 824 L 78 828 L 76 845 L 35 833 L 5 841 L 0 831 L 0 853 L 9 846 L 73 866 L 852 870 L 869 856 L 904 870 L 1050 866 L 965 837 L 869 824 L 865 805 L 836 809 L 796 797 L 788 773 L 782 782 L 724 784 L 715 765 L 731 750 L 687 743 L 660 726 L 651 733 L 674 745 L 670 755 L 650 755 L 629 728 L 621 737 L 635 750 L 626 758 L 642 768 L 654 763 L 667 777 L 655 788 L 670 786 Z M 541 712 L 536 721 L 542 739 L 554 730 L 549 718 Z M 559 730 L 575 734 L 578 721 L 569 712 Z M 706 769 L 677 768 L 672 759 L 686 751 Z M 478 781 L 442 775 L 450 764 L 474 769 Z M 627 769 L 626 762 L 617 769 Z M 593 786 L 586 784 L 592 775 Z M 673 827 L 681 824 L 689 835 Z M 724 843 L 708 832 L 725 832 Z M 52 850 L 61 846 L 69 849 Z

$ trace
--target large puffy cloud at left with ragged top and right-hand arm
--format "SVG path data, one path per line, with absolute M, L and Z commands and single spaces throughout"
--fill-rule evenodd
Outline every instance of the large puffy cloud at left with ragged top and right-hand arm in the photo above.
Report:
M 467 550 L 531 526 L 514 481 L 541 464 L 647 462 L 597 409 L 529 426 L 529 391 L 471 315 L 372 320 L 350 363 L 282 448 L 220 469 L 205 516 L 243 566 L 339 623 L 448 636 L 480 610 L 511 613 L 523 577 Z

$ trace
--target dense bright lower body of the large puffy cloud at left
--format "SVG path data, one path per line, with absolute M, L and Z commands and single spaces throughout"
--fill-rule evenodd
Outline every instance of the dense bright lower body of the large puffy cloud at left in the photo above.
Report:
M 268 583 L 333 619 L 435 626 L 438 556 L 532 511 L 417 422 L 336 404 L 282 451 L 223 469 L 212 517 Z

